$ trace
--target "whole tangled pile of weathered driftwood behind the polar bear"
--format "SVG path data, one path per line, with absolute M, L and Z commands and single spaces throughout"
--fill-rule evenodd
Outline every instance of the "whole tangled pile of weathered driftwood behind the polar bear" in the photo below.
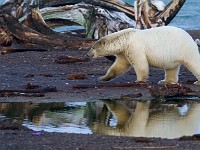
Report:
M 117 0 L 7 0 L 0 5 L 0 54 L 87 49 L 94 39 L 124 28 L 167 25 L 185 0 L 172 0 L 163 9 L 160 2 L 137 0 L 134 8 Z M 73 35 L 52 30 L 70 25 L 84 31 Z

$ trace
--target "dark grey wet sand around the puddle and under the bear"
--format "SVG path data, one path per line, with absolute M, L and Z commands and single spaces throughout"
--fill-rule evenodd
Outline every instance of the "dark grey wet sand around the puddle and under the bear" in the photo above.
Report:
M 188 32 L 194 39 L 200 39 L 200 31 Z M 96 101 L 139 93 L 141 97 L 133 100 L 152 98 L 148 86 L 134 83 L 136 75 L 133 69 L 112 81 L 98 81 L 113 62 L 106 58 L 90 60 L 86 53 L 87 50 L 64 50 L 1 56 L 0 89 L 12 92 L 4 93 L 0 102 Z M 180 83 L 194 91 L 200 90 L 199 86 L 192 84 L 196 78 L 186 68 L 181 67 L 179 76 Z M 148 84 L 156 84 L 163 78 L 163 70 L 151 68 Z M 50 88 L 45 91 L 47 87 Z M 32 95 L 22 94 L 31 90 L 43 95 L 37 95 L 35 91 Z M 199 136 L 167 140 L 46 132 L 35 134 L 16 124 L 0 124 L 0 149 L 199 149 L 200 146 Z

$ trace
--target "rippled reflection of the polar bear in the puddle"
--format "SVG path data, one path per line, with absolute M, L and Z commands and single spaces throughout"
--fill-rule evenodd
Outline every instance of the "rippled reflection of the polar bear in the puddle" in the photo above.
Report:
M 117 125 L 113 128 L 102 123 L 95 124 L 93 129 L 96 133 L 162 138 L 200 133 L 200 104 L 186 104 L 168 108 L 167 111 L 149 112 L 150 102 L 136 102 L 135 111 L 130 114 L 130 110 L 118 102 L 104 103 L 116 117 Z

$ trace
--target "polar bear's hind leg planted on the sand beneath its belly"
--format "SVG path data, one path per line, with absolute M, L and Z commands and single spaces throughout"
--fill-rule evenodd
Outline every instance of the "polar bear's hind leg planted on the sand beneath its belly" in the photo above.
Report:
M 178 82 L 178 74 L 179 74 L 180 65 L 173 69 L 165 70 L 165 79 L 158 82 L 158 84 L 176 84 Z

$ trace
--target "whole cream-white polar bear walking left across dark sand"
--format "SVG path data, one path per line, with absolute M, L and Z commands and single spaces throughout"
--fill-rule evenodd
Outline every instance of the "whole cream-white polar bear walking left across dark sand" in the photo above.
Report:
M 146 82 L 149 67 L 165 70 L 160 84 L 177 83 L 180 65 L 198 79 L 200 85 L 200 54 L 192 37 L 184 30 L 163 26 L 146 30 L 124 29 L 99 39 L 87 53 L 89 57 L 115 55 L 116 60 L 100 80 L 108 81 L 134 68 L 136 82 Z

